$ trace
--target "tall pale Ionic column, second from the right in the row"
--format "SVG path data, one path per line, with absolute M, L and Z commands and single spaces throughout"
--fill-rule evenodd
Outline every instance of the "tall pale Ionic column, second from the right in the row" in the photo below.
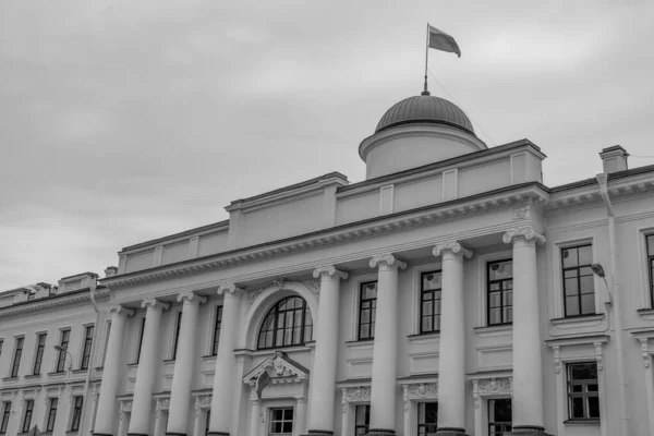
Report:
M 439 436 L 465 435 L 465 316 L 463 303 L 463 257 L 472 252 L 456 241 L 438 244 L 443 256 L 440 301 L 440 359 L 438 360 Z

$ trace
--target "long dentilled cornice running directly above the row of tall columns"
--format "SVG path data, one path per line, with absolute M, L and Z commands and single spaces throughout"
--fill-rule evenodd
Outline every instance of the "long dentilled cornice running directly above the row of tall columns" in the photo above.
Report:
M 324 246 L 358 241 L 416 227 L 424 227 L 435 222 L 460 219 L 463 216 L 485 214 L 491 210 L 505 209 L 514 206 L 516 204 L 542 204 L 546 203 L 548 193 L 542 184 L 536 182 L 523 183 L 493 192 L 472 195 L 470 197 L 371 218 L 284 240 L 182 261 L 177 264 L 154 267 L 141 271 L 117 275 L 105 278 L 101 282 L 111 289 L 118 289 L 145 282 L 166 280 L 173 277 L 250 264 L 270 257 L 313 251 Z

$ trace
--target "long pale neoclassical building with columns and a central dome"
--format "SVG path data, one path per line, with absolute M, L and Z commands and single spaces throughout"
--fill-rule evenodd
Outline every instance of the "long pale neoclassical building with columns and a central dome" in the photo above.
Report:
M 0 431 L 654 435 L 654 166 L 545 186 L 426 92 L 359 154 L 0 294 Z

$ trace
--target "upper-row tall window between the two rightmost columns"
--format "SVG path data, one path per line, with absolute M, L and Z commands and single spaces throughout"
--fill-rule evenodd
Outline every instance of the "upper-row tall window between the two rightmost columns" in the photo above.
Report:
M 487 265 L 488 325 L 513 322 L 513 261 L 489 262 Z

